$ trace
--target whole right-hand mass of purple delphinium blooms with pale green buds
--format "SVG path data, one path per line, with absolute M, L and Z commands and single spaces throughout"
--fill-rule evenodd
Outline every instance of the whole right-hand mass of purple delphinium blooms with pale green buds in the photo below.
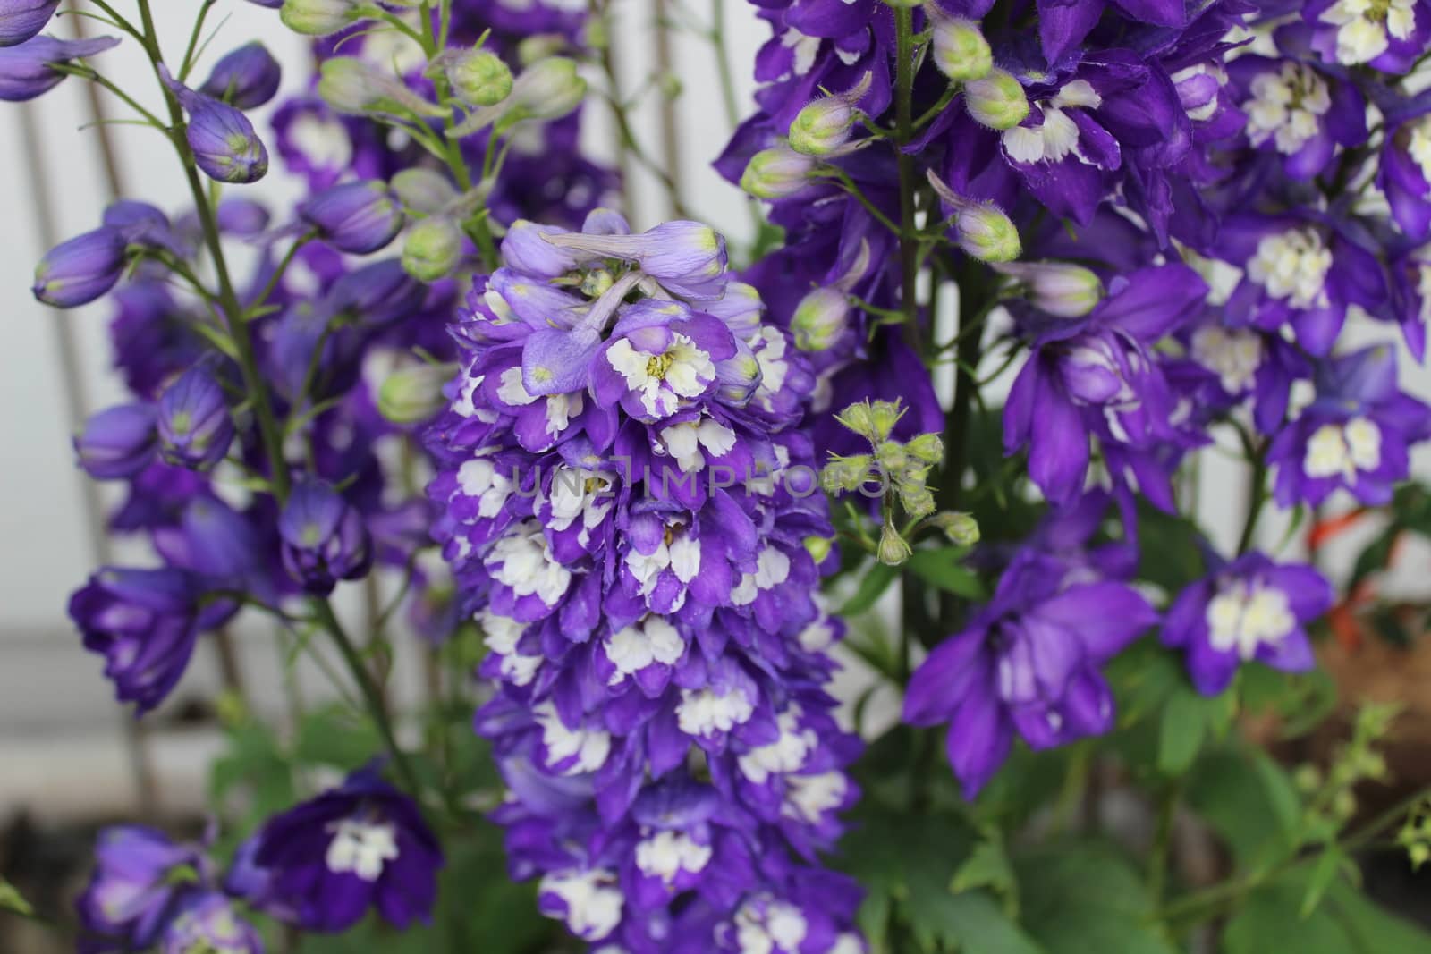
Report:
M 786 229 L 750 275 L 816 393 L 903 396 L 926 431 L 943 412 L 922 363 L 1023 353 L 1006 453 L 1027 452 L 1050 519 L 1110 491 L 1129 541 L 1136 501 L 1178 512 L 1179 465 L 1229 423 L 1284 506 L 1390 501 L 1431 413 L 1398 390 L 1392 348 L 1338 345 L 1371 319 L 1424 350 L 1431 100 L 1402 74 L 1431 13 L 995 6 L 760 4 L 760 112 L 718 166 Z M 959 285 L 949 345 L 913 297 L 924 257 Z M 829 421 L 811 432 L 847 453 Z M 1106 731 L 1099 664 L 1158 618 L 1139 599 L 1110 626 L 1095 606 L 1130 591 L 1043 559 L 1027 544 L 910 685 L 906 715 L 950 722 L 970 794 L 1015 732 L 1042 748 Z M 1163 638 L 1215 694 L 1242 661 L 1308 668 L 1304 626 L 1328 604 L 1314 571 L 1241 554 L 1173 602 Z

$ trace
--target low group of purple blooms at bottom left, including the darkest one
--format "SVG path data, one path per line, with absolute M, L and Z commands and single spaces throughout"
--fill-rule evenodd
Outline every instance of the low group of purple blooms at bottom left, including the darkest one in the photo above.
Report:
M 376 910 L 401 928 L 431 911 L 441 865 L 412 800 L 372 769 L 270 820 L 222 875 L 203 845 L 107 828 L 77 901 L 80 950 L 263 954 L 243 907 L 312 931 L 342 931 Z

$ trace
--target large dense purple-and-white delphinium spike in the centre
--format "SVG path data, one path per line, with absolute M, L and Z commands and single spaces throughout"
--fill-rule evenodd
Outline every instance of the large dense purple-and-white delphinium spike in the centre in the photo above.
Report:
M 780 479 L 813 461 L 813 376 L 761 310 L 708 227 L 597 210 L 518 223 L 452 328 L 431 493 L 498 684 L 495 818 L 604 951 L 860 950 L 857 895 L 814 867 L 856 797 L 821 688 L 830 526 Z

